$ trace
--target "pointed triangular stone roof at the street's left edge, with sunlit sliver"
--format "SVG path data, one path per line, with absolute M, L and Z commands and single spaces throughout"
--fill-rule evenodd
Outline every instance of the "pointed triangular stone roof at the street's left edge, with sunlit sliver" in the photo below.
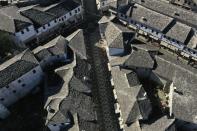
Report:
M 77 55 L 82 59 L 87 59 L 83 30 L 79 29 L 75 31 L 73 34 L 69 35 L 66 40 L 69 42 L 68 46 Z

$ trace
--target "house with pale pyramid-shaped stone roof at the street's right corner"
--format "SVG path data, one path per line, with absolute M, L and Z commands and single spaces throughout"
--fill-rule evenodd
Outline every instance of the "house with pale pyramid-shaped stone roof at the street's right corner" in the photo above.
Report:
M 124 55 L 128 52 L 130 42 L 135 33 L 120 23 L 105 20 L 105 16 L 99 21 L 100 34 L 106 40 L 110 56 Z

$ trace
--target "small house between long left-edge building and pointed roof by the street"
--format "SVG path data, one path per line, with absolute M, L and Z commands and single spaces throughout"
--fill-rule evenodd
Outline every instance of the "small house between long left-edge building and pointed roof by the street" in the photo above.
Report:
M 72 51 L 68 49 L 67 40 L 63 36 L 57 36 L 45 45 L 38 46 L 33 53 L 43 70 L 68 63 L 73 57 Z

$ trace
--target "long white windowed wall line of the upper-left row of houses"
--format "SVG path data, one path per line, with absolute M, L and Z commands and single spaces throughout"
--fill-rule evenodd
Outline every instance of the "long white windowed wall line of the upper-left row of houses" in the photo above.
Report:
M 82 18 L 83 9 L 81 6 L 73 9 L 72 11 L 66 13 L 65 15 L 52 20 L 51 22 L 45 24 L 44 26 L 38 28 L 37 30 L 33 25 L 29 26 L 26 29 L 21 30 L 20 32 L 15 33 L 15 37 L 13 37 L 15 43 L 20 47 L 24 47 L 25 43 L 35 39 L 42 38 L 43 36 L 54 32 L 58 29 L 62 24 L 67 23 L 68 21 L 77 21 L 77 18 Z

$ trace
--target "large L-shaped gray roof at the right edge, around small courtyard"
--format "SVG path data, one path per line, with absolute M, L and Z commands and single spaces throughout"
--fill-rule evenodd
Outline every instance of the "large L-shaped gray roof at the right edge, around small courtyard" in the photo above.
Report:
M 191 66 L 167 55 L 156 57 L 158 67 L 154 71 L 171 80 L 179 93 L 174 92 L 172 113 L 178 119 L 196 123 L 197 71 Z

